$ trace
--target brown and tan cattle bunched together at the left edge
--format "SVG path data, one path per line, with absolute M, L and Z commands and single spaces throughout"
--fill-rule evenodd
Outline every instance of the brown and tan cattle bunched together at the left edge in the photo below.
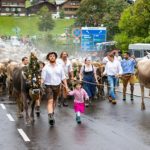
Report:
M 40 90 L 32 90 L 29 88 L 28 79 L 24 72 L 28 67 L 14 61 L 0 62 L 0 93 L 7 91 L 9 97 L 13 97 L 17 103 L 17 116 L 23 117 L 25 111 L 25 120 L 27 124 L 34 121 L 34 108 L 36 100 L 40 98 Z M 29 101 L 31 113 L 29 115 Z

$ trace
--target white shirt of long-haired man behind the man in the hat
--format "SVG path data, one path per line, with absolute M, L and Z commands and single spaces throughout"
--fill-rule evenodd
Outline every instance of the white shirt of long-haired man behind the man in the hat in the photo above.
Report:
M 57 59 L 57 64 L 61 65 L 64 69 L 65 76 L 69 79 L 69 73 L 73 71 L 72 64 L 69 59 L 67 59 L 66 63 L 62 59 Z

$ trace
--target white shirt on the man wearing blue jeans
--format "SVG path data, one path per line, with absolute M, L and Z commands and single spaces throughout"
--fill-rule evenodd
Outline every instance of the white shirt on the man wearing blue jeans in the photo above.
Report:
M 113 62 L 108 61 L 106 66 L 105 66 L 105 71 L 104 74 L 114 76 L 116 74 L 122 74 L 122 67 L 121 63 L 118 60 L 114 60 Z

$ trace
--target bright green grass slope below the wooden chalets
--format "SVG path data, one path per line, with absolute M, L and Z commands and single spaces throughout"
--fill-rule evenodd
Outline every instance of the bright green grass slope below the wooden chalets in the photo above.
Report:
M 39 35 L 38 31 L 38 17 L 14 17 L 14 16 L 0 16 L 0 35 L 15 35 L 13 28 L 19 27 L 21 29 L 20 35 Z M 51 31 L 52 35 L 60 35 L 65 32 L 65 28 L 74 23 L 73 19 L 57 19 L 55 20 L 55 27 Z

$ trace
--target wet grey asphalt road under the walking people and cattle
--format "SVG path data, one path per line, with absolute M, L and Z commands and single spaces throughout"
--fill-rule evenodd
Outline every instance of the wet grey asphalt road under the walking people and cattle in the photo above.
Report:
M 56 109 L 55 127 L 48 125 L 45 102 L 40 118 L 26 126 L 24 119 L 16 117 L 16 105 L 10 104 L 6 96 L 1 101 L 1 97 L 0 150 L 149 150 L 150 100 L 145 100 L 147 109 L 141 111 L 140 97 L 135 97 L 132 104 L 130 100 L 123 102 L 120 93 L 117 95 L 116 106 L 107 100 L 94 101 L 82 116 L 81 125 L 75 122 L 70 101 L 68 108 Z M 30 141 L 24 141 L 18 129 Z

